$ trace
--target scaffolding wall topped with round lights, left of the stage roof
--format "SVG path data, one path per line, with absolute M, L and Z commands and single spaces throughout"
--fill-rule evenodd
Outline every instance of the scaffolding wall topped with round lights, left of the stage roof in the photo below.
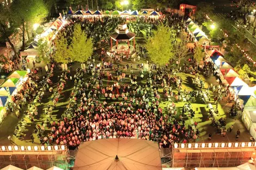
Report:
M 69 169 L 68 150 L 65 146 L 2 146 L 0 147 L 0 169 L 13 165 L 21 169 L 33 166 L 48 169 L 57 166 Z

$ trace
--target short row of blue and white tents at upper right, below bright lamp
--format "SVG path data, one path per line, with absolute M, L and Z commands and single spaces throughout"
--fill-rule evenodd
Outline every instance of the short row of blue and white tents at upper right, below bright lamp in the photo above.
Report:
M 188 18 L 185 21 L 185 24 L 188 30 L 190 30 L 190 33 L 193 34 L 197 42 L 210 43 L 208 36 L 205 35 L 205 33 L 200 29 L 200 27 L 196 23 L 194 23 L 194 21 L 191 18 Z

